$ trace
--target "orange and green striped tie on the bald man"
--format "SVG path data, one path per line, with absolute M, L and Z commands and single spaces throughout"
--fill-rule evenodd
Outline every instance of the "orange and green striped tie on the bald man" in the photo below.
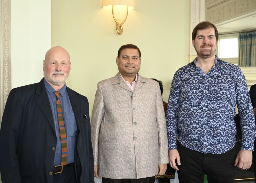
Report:
M 55 91 L 55 95 L 57 97 L 57 116 L 59 123 L 59 136 L 61 141 L 61 165 L 66 165 L 68 163 L 68 141 L 67 135 L 64 125 L 64 118 L 62 114 L 62 107 L 60 102 L 60 93 Z

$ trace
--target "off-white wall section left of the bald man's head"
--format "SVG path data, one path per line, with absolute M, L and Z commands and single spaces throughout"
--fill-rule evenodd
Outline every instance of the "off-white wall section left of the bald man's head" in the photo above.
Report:
M 51 0 L 11 1 L 12 88 L 39 82 L 51 48 Z

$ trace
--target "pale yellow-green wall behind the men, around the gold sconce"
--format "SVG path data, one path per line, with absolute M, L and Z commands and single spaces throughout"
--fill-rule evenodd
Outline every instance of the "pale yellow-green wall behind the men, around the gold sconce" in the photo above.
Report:
M 188 13 L 187 0 L 135 0 L 118 35 L 102 0 L 52 0 L 52 46 L 63 46 L 71 56 L 67 86 L 88 97 L 91 111 L 97 82 L 118 72 L 117 51 L 132 43 L 142 54 L 139 74 L 162 80 L 167 101 L 175 71 L 188 63 Z

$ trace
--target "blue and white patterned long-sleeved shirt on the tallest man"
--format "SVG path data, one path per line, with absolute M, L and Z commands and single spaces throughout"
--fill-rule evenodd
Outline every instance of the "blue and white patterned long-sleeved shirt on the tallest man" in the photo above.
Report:
M 167 107 L 169 150 L 179 142 L 202 153 L 221 154 L 236 142 L 235 105 L 241 119 L 241 149 L 253 150 L 255 121 L 241 69 L 215 58 L 208 74 L 195 65 L 197 58 L 174 75 Z

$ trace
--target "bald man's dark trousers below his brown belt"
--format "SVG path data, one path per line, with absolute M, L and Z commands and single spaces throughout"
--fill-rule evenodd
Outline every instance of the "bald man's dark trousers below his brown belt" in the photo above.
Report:
M 74 163 L 62 173 L 53 175 L 53 183 L 76 183 L 76 172 Z

